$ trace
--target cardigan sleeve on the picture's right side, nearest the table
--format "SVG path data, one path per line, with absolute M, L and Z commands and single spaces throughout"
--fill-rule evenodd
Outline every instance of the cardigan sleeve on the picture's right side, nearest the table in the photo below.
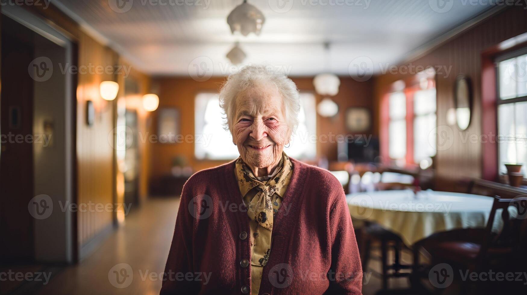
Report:
M 331 268 L 328 271 L 328 294 L 362 294 L 363 271 L 349 214 L 346 196 L 340 184 L 329 211 Z

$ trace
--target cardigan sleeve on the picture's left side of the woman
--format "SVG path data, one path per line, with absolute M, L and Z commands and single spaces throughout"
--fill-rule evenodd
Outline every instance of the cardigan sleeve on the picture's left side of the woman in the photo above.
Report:
M 183 186 L 175 221 L 174 235 L 167 264 L 163 274 L 160 295 L 195 294 L 199 286 L 193 280 L 185 280 L 185 275 L 192 270 L 192 240 L 194 218 L 189 212 L 189 201 L 192 199 L 189 181 Z

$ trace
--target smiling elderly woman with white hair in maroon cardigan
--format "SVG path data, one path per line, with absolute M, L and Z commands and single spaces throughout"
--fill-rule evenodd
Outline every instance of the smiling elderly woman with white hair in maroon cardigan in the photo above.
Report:
M 184 185 L 161 294 L 361 294 L 342 186 L 284 153 L 298 125 L 295 83 L 247 66 L 220 104 L 240 157 Z

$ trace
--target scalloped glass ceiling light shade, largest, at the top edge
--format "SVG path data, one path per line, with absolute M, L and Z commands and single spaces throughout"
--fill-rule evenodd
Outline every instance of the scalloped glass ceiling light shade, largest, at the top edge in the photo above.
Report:
M 227 17 L 227 24 L 229 24 L 232 34 L 240 32 L 243 36 L 247 36 L 249 33 L 260 35 L 264 22 L 264 14 L 247 2 L 236 6 Z

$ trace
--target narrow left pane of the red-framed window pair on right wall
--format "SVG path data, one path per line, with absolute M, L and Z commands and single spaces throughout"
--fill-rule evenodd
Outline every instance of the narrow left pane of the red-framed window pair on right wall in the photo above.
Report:
M 389 156 L 392 159 L 404 161 L 406 157 L 406 95 L 403 92 L 394 92 L 390 94 L 388 104 Z

